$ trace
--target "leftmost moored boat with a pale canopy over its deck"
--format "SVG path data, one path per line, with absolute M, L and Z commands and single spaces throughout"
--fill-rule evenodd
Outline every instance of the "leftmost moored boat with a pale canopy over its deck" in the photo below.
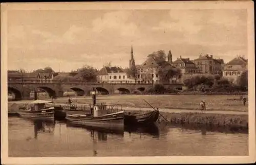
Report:
M 54 120 L 54 106 L 47 106 L 46 104 L 49 103 L 52 103 L 52 101 L 34 100 L 29 102 L 26 108 L 19 108 L 17 113 L 24 118 Z

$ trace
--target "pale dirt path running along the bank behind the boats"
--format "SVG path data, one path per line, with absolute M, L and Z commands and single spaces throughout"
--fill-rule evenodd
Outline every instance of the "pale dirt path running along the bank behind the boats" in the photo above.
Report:
M 24 104 L 28 101 L 12 101 L 9 103 L 16 103 L 16 104 Z M 55 105 L 67 105 L 65 103 L 55 103 Z M 79 106 L 89 106 L 89 104 L 79 104 L 77 103 L 77 105 Z M 153 108 L 151 107 L 143 107 L 143 108 L 139 108 L 139 107 L 125 107 L 122 106 L 123 110 L 127 110 L 127 111 L 152 111 Z M 189 110 L 189 109 L 167 109 L 167 108 L 159 108 L 160 112 L 164 112 L 164 113 L 202 113 L 202 111 L 199 110 Z M 238 112 L 238 111 L 206 111 L 204 112 L 206 114 L 226 114 L 226 115 L 248 115 L 248 112 Z

